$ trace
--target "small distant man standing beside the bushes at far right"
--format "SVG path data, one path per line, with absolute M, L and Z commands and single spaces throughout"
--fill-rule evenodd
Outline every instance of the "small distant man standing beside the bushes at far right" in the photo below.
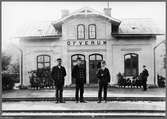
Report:
M 147 77 L 149 76 L 148 70 L 146 69 L 146 66 L 143 65 L 143 71 L 142 71 L 142 81 L 143 81 L 143 90 L 147 90 Z

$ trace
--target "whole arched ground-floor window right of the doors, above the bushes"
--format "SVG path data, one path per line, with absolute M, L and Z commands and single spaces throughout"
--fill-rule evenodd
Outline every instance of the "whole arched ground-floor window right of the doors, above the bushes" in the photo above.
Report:
M 124 56 L 125 76 L 138 75 L 138 54 L 129 53 Z

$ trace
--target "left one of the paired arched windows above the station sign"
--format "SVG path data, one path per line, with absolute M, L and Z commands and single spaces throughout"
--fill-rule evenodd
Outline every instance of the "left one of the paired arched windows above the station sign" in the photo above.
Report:
M 83 24 L 79 24 L 77 26 L 77 39 L 85 39 L 85 26 Z

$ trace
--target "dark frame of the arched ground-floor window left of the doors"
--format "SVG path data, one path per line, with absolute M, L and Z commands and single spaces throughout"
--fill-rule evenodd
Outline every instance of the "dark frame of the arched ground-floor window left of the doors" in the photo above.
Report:
M 45 61 L 45 58 L 44 58 L 45 56 L 49 57 L 49 61 Z M 42 62 L 39 61 L 39 57 L 42 57 L 42 58 L 43 58 L 43 61 L 42 61 Z M 38 55 L 37 58 L 36 58 L 36 61 L 37 61 L 37 70 L 38 70 L 38 69 L 45 69 L 45 68 L 46 68 L 46 67 L 45 67 L 45 64 L 46 64 L 46 63 L 49 63 L 49 66 L 48 66 L 48 67 L 51 68 L 51 56 L 50 56 L 50 55 L 46 55 L 46 54 Z M 41 64 L 43 65 L 42 68 L 39 68 L 39 67 L 38 67 L 38 64 L 39 64 L 39 63 L 41 63 Z

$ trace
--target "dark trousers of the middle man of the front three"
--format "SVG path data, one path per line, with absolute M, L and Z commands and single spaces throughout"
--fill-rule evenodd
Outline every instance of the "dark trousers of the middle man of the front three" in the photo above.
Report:
M 84 83 L 76 84 L 76 92 L 75 92 L 76 101 L 79 101 L 79 92 L 80 92 L 80 101 L 83 101 Z

